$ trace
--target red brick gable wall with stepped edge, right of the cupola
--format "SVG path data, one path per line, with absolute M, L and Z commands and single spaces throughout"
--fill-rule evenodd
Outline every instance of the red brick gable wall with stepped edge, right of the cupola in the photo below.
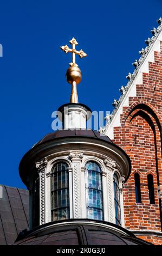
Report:
M 162 49 L 162 44 L 161 44 Z M 162 185 L 161 115 L 162 115 L 162 51 L 154 52 L 155 62 L 149 63 L 149 73 L 143 74 L 143 84 L 137 85 L 137 96 L 129 97 L 129 107 L 123 108 L 121 127 L 114 127 L 114 142 L 131 157 L 132 173 L 124 188 L 125 227 L 131 230 L 161 231 Z M 135 200 L 134 174 L 141 184 L 141 203 Z M 154 180 L 155 204 L 148 197 L 147 175 Z M 139 236 L 162 245 L 162 237 Z

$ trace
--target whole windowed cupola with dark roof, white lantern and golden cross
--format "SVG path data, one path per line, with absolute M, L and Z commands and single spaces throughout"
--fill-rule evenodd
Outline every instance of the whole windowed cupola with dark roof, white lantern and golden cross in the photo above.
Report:
M 30 231 L 23 237 L 37 236 L 40 230 L 42 236 L 58 230 L 62 230 L 62 235 L 67 230 L 71 233 L 87 230 L 84 237 L 88 230 L 98 230 L 100 235 L 103 231 L 103 237 L 110 232 L 128 236 L 124 230 L 122 188 L 131 172 L 131 162 L 109 137 L 86 129 L 91 111 L 78 102 L 76 86 L 81 81 L 81 70 L 75 63 L 75 55 L 82 58 L 87 54 L 76 51 L 74 38 L 70 44 L 72 49 L 67 45 L 61 47 L 73 55 L 66 75 L 72 84 L 70 102 L 58 109 L 58 116 L 63 115 L 63 130 L 44 136 L 20 163 L 21 179 L 30 191 Z M 73 235 L 69 235 L 71 243 L 67 239 L 62 244 L 75 244 Z M 109 235 L 105 243 L 101 243 L 98 235 L 96 244 L 108 243 Z M 86 244 L 88 240 L 84 237 L 76 244 L 78 241 Z M 117 244 L 124 241 L 119 240 Z

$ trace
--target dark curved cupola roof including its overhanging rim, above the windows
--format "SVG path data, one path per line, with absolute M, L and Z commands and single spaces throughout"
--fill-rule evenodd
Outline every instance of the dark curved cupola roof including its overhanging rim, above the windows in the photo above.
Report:
M 125 181 L 127 181 L 129 174 L 131 173 L 131 160 L 129 159 L 129 156 L 125 153 L 123 149 L 121 149 L 118 145 L 113 143 L 111 139 L 104 135 L 103 133 L 99 133 L 93 130 L 83 130 L 83 129 L 74 129 L 74 130 L 59 130 L 56 132 L 48 133 L 46 136 L 44 136 L 41 141 L 37 142 L 33 148 L 31 148 L 22 158 L 20 165 L 19 165 L 19 173 L 21 176 L 22 181 L 24 184 L 28 187 L 29 186 L 29 179 L 32 172 L 32 168 L 30 166 L 31 164 L 35 164 L 35 159 L 38 156 L 38 150 L 44 150 L 46 148 L 46 145 L 50 145 L 50 147 L 55 147 L 54 143 L 55 141 L 64 141 L 68 143 L 68 139 L 73 140 L 74 142 L 77 139 L 80 139 L 80 142 L 82 141 L 89 141 L 93 140 L 98 145 L 102 143 L 106 143 L 107 146 L 116 148 L 117 150 L 120 150 L 122 154 L 125 155 L 128 164 L 129 164 L 129 170 L 128 174 L 125 176 Z M 44 147 L 45 146 L 45 147 Z M 44 149 L 43 149 L 44 147 Z M 46 150 L 46 149 L 45 149 Z M 31 158 L 33 157 L 33 162 L 31 161 Z M 30 161 L 29 161 L 30 159 Z M 37 159 L 38 161 L 38 159 Z

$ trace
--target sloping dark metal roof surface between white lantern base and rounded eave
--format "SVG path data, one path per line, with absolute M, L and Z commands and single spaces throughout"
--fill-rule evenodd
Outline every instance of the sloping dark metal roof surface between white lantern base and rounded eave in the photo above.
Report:
M 56 132 L 48 133 L 46 136 L 43 137 L 43 139 L 41 139 L 41 141 L 37 142 L 34 145 L 34 147 L 44 142 L 51 141 L 57 138 L 63 138 L 63 137 L 89 137 L 89 138 L 101 139 L 102 141 L 106 141 L 113 144 L 111 139 L 108 136 L 104 135 L 103 133 L 99 133 L 93 130 L 75 129 L 75 130 L 59 130 Z

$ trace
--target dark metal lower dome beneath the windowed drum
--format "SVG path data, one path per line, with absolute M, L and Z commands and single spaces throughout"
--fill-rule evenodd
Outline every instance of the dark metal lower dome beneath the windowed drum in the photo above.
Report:
M 63 222 L 41 225 L 19 236 L 15 245 L 150 245 L 113 223 L 87 219 Z

